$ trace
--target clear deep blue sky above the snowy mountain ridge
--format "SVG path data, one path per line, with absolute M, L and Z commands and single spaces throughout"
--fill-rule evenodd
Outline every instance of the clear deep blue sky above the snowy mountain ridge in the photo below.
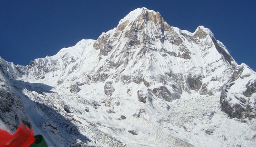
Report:
M 0 56 L 27 65 L 82 39 L 97 39 L 141 7 L 180 29 L 210 28 L 238 64 L 256 71 L 255 0 L 0 0 Z

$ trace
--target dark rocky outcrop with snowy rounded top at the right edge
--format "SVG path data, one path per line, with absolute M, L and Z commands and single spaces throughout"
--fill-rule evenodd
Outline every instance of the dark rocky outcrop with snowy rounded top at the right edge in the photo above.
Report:
M 255 74 L 248 66 L 237 66 L 220 95 L 221 110 L 231 118 L 255 118 Z

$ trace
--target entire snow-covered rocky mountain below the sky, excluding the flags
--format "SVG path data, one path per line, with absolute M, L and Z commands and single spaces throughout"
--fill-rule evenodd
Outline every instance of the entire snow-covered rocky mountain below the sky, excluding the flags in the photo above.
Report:
M 0 83 L 0 124 L 51 146 L 256 146 L 255 72 L 146 8 L 27 66 L 0 57 Z

